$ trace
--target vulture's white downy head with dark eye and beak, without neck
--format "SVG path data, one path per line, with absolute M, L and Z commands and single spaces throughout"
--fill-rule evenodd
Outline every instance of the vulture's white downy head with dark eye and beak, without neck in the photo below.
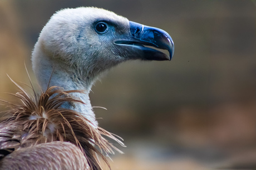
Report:
M 57 12 L 40 38 L 46 53 L 70 68 L 82 69 L 86 76 L 130 59 L 170 60 L 174 53 L 173 40 L 164 30 L 99 8 Z M 150 47 L 168 50 L 169 55 Z

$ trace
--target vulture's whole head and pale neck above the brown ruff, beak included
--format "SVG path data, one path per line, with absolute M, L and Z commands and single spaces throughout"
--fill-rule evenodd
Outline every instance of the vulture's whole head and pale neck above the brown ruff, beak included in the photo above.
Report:
M 166 49 L 170 56 L 148 46 Z M 96 127 L 88 93 L 103 71 L 130 59 L 170 60 L 173 52 L 173 40 L 164 30 L 104 9 L 81 7 L 53 14 L 35 45 L 32 66 L 44 91 L 48 84 L 85 90 L 73 95 L 86 105 L 64 107 L 81 112 Z

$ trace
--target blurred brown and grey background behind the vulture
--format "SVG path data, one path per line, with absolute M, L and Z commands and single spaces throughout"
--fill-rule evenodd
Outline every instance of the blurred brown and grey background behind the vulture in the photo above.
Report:
M 101 127 L 124 138 L 112 169 L 255 168 L 256 1 L 0 1 L 0 98 L 35 83 L 31 51 L 55 11 L 95 6 L 166 30 L 171 61 L 116 66 L 92 88 Z M 4 107 L 1 106 L 1 110 Z

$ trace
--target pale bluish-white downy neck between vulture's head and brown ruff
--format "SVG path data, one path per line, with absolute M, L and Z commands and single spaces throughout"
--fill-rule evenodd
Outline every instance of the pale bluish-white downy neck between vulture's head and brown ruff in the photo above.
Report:
M 67 68 L 66 65 L 61 64 L 54 57 L 52 58 L 52 56 L 50 57 L 44 53 L 38 46 L 40 45 L 37 43 L 32 54 L 32 66 L 42 90 L 46 91 L 47 87 L 51 86 L 59 86 L 64 90 L 84 90 L 84 93 L 72 93 L 74 97 L 80 99 L 84 104 L 75 103 L 71 105 L 65 103 L 62 107 L 81 113 L 91 122 L 93 127 L 97 128 L 98 123 L 89 97 L 93 80 L 88 78 L 81 79 L 81 75 L 73 71 L 75 69 Z

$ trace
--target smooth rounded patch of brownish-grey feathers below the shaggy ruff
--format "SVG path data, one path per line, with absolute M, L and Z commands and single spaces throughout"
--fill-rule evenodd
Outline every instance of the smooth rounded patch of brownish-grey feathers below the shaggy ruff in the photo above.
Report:
M 13 161 L 15 160 L 15 161 Z M 0 162 L 1 169 L 91 169 L 81 150 L 70 142 L 55 141 L 20 148 Z

